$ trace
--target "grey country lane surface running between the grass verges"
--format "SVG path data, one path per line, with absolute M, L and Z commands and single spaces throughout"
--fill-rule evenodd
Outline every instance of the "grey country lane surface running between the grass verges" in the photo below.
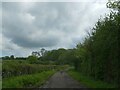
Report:
M 66 72 L 55 73 L 42 88 L 84 88 Z

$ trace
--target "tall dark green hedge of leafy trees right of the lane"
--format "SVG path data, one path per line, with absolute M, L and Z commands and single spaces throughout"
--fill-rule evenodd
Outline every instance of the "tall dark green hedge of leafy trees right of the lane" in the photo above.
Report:
M 82 44 L 76 47 L 78 70 L 86 76 L 120 85 L 119 79 L 119 12 L 111 12 L 104 19 L 99 19 L 93 32 Z

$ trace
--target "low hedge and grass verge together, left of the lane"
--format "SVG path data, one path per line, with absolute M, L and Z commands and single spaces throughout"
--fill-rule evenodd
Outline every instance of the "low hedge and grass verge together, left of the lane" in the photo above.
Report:
M 36 63 L 33 58 L 3 60 L 2 88 L 37 88 L 55 72 L 68 67 L 68 65 Z

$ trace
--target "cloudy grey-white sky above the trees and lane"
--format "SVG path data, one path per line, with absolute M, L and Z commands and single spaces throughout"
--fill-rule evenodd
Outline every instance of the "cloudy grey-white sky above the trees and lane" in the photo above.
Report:
M 76 1 L 76 2 L 75 2 Z M 4 0 L 0 3 L 0 56 L 74 48 L 99 18 L 107 0 Z

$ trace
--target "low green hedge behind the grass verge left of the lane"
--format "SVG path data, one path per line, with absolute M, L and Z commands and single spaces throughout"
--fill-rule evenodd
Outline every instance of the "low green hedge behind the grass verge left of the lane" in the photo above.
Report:
M 27 61 L 19 60 L 4 60 L 2 66 L 2 78 L 40 73 L 43 71 L 54 70 L 59 67 L 57 65 L 29 64 Z

